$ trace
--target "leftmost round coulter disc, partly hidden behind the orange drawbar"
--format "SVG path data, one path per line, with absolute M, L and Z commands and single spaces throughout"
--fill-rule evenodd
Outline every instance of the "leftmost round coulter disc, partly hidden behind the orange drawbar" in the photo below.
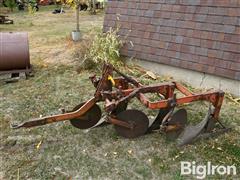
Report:
M 73 111 L 81 108 L 85 103 L 77 105 Z M 91 109 L 89 109 L 83 116 L 75 119 L 71 119 L 71 124 L 78 129 L 88 129 L 95 126 L 101 119 L 102 113 L 100 107 L 95 104 Z

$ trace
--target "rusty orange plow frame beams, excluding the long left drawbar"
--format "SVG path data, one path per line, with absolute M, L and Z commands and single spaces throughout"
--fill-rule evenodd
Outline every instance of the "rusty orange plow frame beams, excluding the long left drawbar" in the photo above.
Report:
M 216 121 L 219 119 L 219 113 L 224 99 L 224 92 L 221 90 L 196 94 L 188 90 L 181 83 L 175 81 L 144 86 L 132 77 L 122 74 L 114 67 L 111 66 L 111 68 L 111 73 L 107 74 L 107 76 L 112 76 L 112 72 L 115 71 L 122 77 L 114 79 L 114 86 L 117 90 L 112 91 L 110 88 L 110 91 L 101 92 L 101 96 L 105 100 L 106 111 L 112 111 L 118 104 L 128 102 L 135 97 L 149 109 L 173 108 L 194 101 L 207 101 L 214 107 L 212 117 Z M 184 96 L 177 98 L 175 94 L 176 90 Z M 164 97 L 164 99 L 161 98 L 158 101 L 152 102 L 145 96 L 147 93 L 157 93 L 161 97 Z M 119 96 L 122 97 L 119 98 Z M 111 99 L 114 99 L 114 101 L 112 102 Z M 116 99 L 118 100 L 116 101 Z

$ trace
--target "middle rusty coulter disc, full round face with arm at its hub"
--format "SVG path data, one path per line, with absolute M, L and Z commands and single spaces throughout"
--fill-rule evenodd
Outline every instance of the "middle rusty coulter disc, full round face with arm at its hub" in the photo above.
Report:
M 138 110 L 126 110 L 117 115 L 117 119 L 127 122 L 133 127 L 131 129 L 115 125 L 117 133 L 125 138 L 136 138 L 144 135 L 147 132 L 149 119 L 141 111 Z

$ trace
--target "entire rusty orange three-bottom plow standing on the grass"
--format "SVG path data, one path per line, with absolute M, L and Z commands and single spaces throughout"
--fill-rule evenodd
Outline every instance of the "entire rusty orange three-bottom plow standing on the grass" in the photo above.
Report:
M 119 77 L 113 78 L 113 73 Z M 216 122 L 222 127 L 220 132 L 228 130 L 219 121 L 219 112 L 224 98 L 222 91 L 195 94 L 178 82 L 144 86 L 134 78 L 119 72 L 111 64 L 104 65 L 101 78 L 92 76 L 90 79 L 96 91 L 94 97 L 87 102 L 79 104 L 70 112 L 33 119 L 20 125 L 12 125 L 12 128 L 30 128 L 70 120 L 74 127 L 88 129 L 99 126 L 99 122 L 104 122 L 113 124 L 117 133 L 126 138 L 135 138 L 158 130 L 166 133 L 170 138 L 178 139 L 180 146 L 193 142 L 201 133 L 212 132 Z M 175 90 L 181 92 L 184 97 L 177 98 Z M 159 100 L 150 101 L 146 97 L 147 93 L 159 95 Z M 150 122 L 148 116 L 139 110 L 127 109 L 133 98 L 137 98 L 148 109 L 159 110 L 154 121 Z M 100 120 L 102 114 L 97 105 L 102 101 L 105 102 L 104 110 L 107 113 L 104 121 Z M 195 126 L 186 126 L 187 111 L 174 109 L 194 101 L 208 101 L 210 107 L 203 121 Z

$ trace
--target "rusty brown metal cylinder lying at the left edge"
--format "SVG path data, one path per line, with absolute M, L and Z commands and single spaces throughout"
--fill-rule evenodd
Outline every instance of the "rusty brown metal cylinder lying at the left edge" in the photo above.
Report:
M 0 32 L 0 73 L 31 69 L 28 34 Z

